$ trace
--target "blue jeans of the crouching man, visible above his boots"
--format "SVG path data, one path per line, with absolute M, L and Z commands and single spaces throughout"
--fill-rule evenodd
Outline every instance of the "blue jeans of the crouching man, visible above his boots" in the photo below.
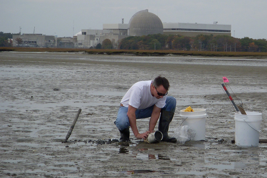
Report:
M 153 107 L 154 107 L 154 105 L 152 105 L 146 109 L 137 109 L 135 111 L 136 119 L 143 119 L 143 118 L 151 117 Z M 176 108 L 176 99 L 174 97 L 168 96 L 166 98 L 166 104 L 161 109 L 161 111 L 164 110 L 164 111 L 175 112 L 175 108 Z M 117 119 L 115 121 L 115 124 L 119 130 L 124 130 L 130 126 L 127 112 L 128 112 L 128 107 L 120 106 L 119 111 L 118 111 L 118 115 L 117 115 Z

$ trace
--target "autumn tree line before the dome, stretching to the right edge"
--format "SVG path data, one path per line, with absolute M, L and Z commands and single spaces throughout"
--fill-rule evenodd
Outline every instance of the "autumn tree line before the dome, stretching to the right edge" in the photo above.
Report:
M 194 50 L 224 52 L 267 52 L 266 39 L 249 37 L 234 38 L 227 35 L 182 35 L 150 34 L 123 38 L 118 49 L 125 50 Z

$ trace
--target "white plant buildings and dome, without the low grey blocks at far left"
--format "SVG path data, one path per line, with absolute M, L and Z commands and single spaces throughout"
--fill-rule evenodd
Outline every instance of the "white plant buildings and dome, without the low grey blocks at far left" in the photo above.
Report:
M 95 47 L 105 39 L 110 39 L 113 46 L 118 45 L 119 41 L 127 36 L 142 36 L 148 34 L 166 34 L 197 36 L 204 35 L 228 35 L 231 36 L 231 25 L 218 24 L 199 24 L 199 23 L 162 23 L 160 18 L 148 12 L 148 9 L 138 11 L 129 21 L 129 24 L 103 24 L 103 30 L 85 30 L 76 34 L 76 47 L 90 48 Z

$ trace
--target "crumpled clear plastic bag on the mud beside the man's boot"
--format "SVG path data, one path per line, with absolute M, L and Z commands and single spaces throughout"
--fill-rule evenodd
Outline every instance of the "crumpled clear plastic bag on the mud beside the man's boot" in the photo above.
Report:
M 196 135 L 196 131 L 189 127 L 188 125 L 178 126 L 173 133 L 173 137 L 175 137 L 180 143 L 184 144 L 186 141 L 189 141 L 194 138 Z

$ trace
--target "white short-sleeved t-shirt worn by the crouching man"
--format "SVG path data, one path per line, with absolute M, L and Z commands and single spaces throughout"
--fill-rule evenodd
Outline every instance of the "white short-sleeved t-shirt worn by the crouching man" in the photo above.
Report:
M 167 96 L 163 96 L 163 98 L 160 99 L 153 97 L 150 93 L 151 83 L 152 80 L 136 82 L 124 95 L 121 104 L 123 104 L 124 107 L 129 107 L 129 105 L 131 105 L 136 109 L 146 109 L 152 105 L 163 108 Z

